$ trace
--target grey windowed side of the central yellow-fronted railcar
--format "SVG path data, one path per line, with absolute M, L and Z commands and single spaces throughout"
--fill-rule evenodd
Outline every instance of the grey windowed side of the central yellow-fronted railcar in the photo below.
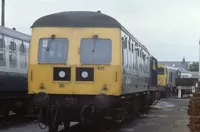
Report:
M 122 37 L 122 94 L 147 91 L 150 85 L 150 55 L 143 45 L 121 31 Z

